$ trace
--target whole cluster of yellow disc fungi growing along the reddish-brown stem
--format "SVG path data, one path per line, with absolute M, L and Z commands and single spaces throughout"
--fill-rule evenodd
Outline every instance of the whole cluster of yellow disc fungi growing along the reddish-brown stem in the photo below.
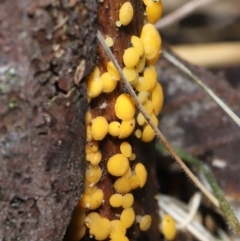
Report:
M 157 115 L 163 105 L 163 91 L 157 81 L 154 64 L 160 54 L 161 38 L 154 24 L 161 17 L 162 3 L 153 0 L 143 0 L 143 3 L 146 11 L 146 24 L 139 37 L 131 36 L 131 46 L 124 51 L 123 74 L 135 90 L 140 103 L 154 123 L 158 125 Z M 124 28 L 132 21 L 133 16 L 132 4 L 128 1 L 123 3 L 119 9 L 116 27 Z M 106 43 L 110 47 L 114 46 L 109 36 L 106 36 Z M 86 113 L 86 160 L 88 164 L 84 193 L 77 207 L 77 210 L 80 210 L 78 213 L 81 213 L 81 225 L 79 225 L 81 227 L 76 240 L 80 240 L 88 229 L 88 234 L 95 240 L 128 241 L 126 231 L 134 223 L 139 225 L 141 231 L 146 231 L 151 226 L 151 216 L 136 215 L 133 208 L 134 196 L 131 192 L 145 185 L 147 171 L 145 166 L 137 161 L 131 144 L 125 139 L 135 135 L 143 142 L 150 142 L 155 136 L 153 129 L 126 93 L 120 94 L 115 101 L 115 121 L 109 123 L 106 117 L 92 118 L 91 114 L 91 100 L 102 93 L 113 92 L 120 80 L 121 77 L 111 61 L 107 63 L 106 72 L 101 73 L 99 68 L 95 67 L 87 79 L 87 97 L 90 105 L 90 110 Z M 108 200 L 109 204 L 112 208 L 122 210 L 114 220 L 101 217 L 98 213 L 98 208 L 105 202 L 104 192 L 98 187 L 98 182 L 102 178 L 102 170 L 99 166 L 102 154 L 99 150 L 99 143 L 107 135 L 122 140 L 120 152 L 114 153 L 108 159 L 106 167 L 115 180 L 113 183 L 115 193 Z

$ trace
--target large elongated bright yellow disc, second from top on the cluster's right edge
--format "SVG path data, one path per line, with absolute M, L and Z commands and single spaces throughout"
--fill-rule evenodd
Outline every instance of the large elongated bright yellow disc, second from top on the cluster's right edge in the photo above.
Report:
M 141 32 L 141 40 L 143 42 L 145 56 L 149 63 L 154 64 L 160 54 L 161 37 L 154 25 L 145 24 Z

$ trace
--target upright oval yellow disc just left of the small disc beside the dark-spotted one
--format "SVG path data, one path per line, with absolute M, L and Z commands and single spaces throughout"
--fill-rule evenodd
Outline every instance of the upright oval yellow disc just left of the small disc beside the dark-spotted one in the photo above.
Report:
M 108 133 L 108 122 L 103 116 L 96 117 L 92 122 L 92 137 L 101 141 Z

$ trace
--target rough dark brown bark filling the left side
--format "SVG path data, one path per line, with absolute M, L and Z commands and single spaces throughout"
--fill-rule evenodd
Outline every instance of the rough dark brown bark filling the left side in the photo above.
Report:
M 79 200 L 96 8 L 0 3 L 0 240 L 61 240 Z

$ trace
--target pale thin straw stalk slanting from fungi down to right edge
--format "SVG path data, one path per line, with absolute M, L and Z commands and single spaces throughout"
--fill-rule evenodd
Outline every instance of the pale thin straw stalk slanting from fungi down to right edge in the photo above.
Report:
M 232 120 L 240 127 L 240 118 L 209 88 L 207 87 L 196 75 L 194 75 L 191 70 L 186 68 L 182 63 L 180 63 L 173 55 L 166 51 L 162 51 L 164 57 L 175 65 L 182 72 L 187 74 L 192 80 L 194 80 L 203 90 L 205 90 L 212 99 L 232 118 Z

